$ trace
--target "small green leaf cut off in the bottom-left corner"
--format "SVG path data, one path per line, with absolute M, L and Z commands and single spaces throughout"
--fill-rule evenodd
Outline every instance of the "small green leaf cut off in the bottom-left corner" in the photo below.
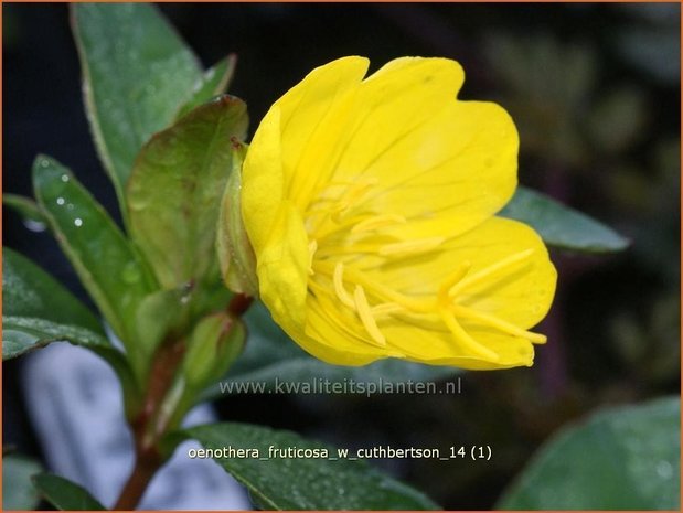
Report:
M 33 510 L 40 502 L 31 477 L 42 472 L 40 463 L 19 455 L 2 457 L 2 510 Z

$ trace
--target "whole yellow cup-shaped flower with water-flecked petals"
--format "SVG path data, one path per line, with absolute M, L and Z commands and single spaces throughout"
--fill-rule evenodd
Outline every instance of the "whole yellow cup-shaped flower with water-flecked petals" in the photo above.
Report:
M 531 365 L 556 272 L 533 229 L 494 216 L 516 186 L 514 124 L 456 99 L 455 61 L 367 65 L 313 70 L 254 135 L 241 201 L 262 300 L 330 363 Z

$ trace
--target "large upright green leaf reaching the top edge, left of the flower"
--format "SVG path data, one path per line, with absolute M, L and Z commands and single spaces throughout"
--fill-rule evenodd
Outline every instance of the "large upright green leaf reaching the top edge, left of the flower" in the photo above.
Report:
M 138 151 L 190 100 L 202 68 L 151 4 L 75 3 L 72 19 L 88 119 L 125 210 Z

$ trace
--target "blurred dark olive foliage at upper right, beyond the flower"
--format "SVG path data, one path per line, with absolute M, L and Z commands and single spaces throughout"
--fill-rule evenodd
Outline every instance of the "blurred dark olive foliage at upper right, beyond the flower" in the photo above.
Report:
M 487 50 L 524 152 L 587 170 L 645 135 L 643 90 L 628 83 L 600 90 L 600 55 L 593 44 L 497 33 Z

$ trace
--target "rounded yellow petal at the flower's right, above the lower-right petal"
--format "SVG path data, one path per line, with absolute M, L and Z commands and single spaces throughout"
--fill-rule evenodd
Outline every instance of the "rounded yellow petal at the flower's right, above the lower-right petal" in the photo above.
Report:
M 383 188 L 367 204 L 399 209 L 410 222 L 387 233 L 402 239 L 465 233 L 512 197 L 517 150 L 516 129 L 501 107 L 452 101 L 374 164 Z M 402 174 L 399 162 L 407 169 Z

